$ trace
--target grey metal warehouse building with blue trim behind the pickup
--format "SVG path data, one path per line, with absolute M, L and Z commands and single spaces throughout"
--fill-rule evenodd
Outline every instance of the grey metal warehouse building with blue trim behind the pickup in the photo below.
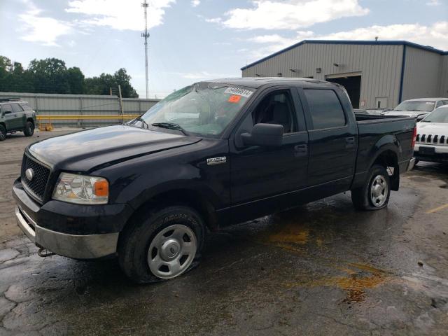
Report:
M 448 52 L 407 41 L 302 41 L 241 68 L 243 77 L 306 77 L 346 87 L 355 108 L 448 97 Z

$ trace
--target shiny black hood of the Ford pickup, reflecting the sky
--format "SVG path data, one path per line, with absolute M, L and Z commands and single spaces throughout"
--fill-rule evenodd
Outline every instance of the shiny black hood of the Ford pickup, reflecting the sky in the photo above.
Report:
M 87 172 L 130 158 L 188 146 L 200 140 L 181 134 L 116 125 L 45 139 L 32 144 L 27 151 L 53 169 Z

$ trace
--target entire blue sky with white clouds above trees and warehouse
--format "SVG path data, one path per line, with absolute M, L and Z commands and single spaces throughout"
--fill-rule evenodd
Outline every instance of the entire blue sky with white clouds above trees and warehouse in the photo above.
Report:
M 143 0 L 0 0 L 0 55 L 57 57 L 86 76 L 125 67 L 145 95 Z M 448 50 L 448 0 L 150 0 L 150 95 L 241 76 L 303 39 L 407 40 Z

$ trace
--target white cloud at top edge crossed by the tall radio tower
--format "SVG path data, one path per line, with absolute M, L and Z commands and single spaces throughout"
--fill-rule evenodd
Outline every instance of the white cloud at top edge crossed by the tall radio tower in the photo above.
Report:
M 87 25 L 109 26 L 113 29 L 142 30 L 144 28 L 144 11 L 142 0 L 71 0 L 68 13 L 83 14 L 82 20 Z M 165 8 L 176 0 L 148 1 L 148 28 L 161 25 Z

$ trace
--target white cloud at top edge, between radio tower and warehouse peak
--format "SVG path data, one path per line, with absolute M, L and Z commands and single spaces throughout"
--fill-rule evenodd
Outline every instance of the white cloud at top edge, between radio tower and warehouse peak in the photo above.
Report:
M 300 29 L 369 13 L 358 0 L 252 0 L 251 3 L 252 8 L 234 8 L 224 18 L 207 21 L 237 29 Z

